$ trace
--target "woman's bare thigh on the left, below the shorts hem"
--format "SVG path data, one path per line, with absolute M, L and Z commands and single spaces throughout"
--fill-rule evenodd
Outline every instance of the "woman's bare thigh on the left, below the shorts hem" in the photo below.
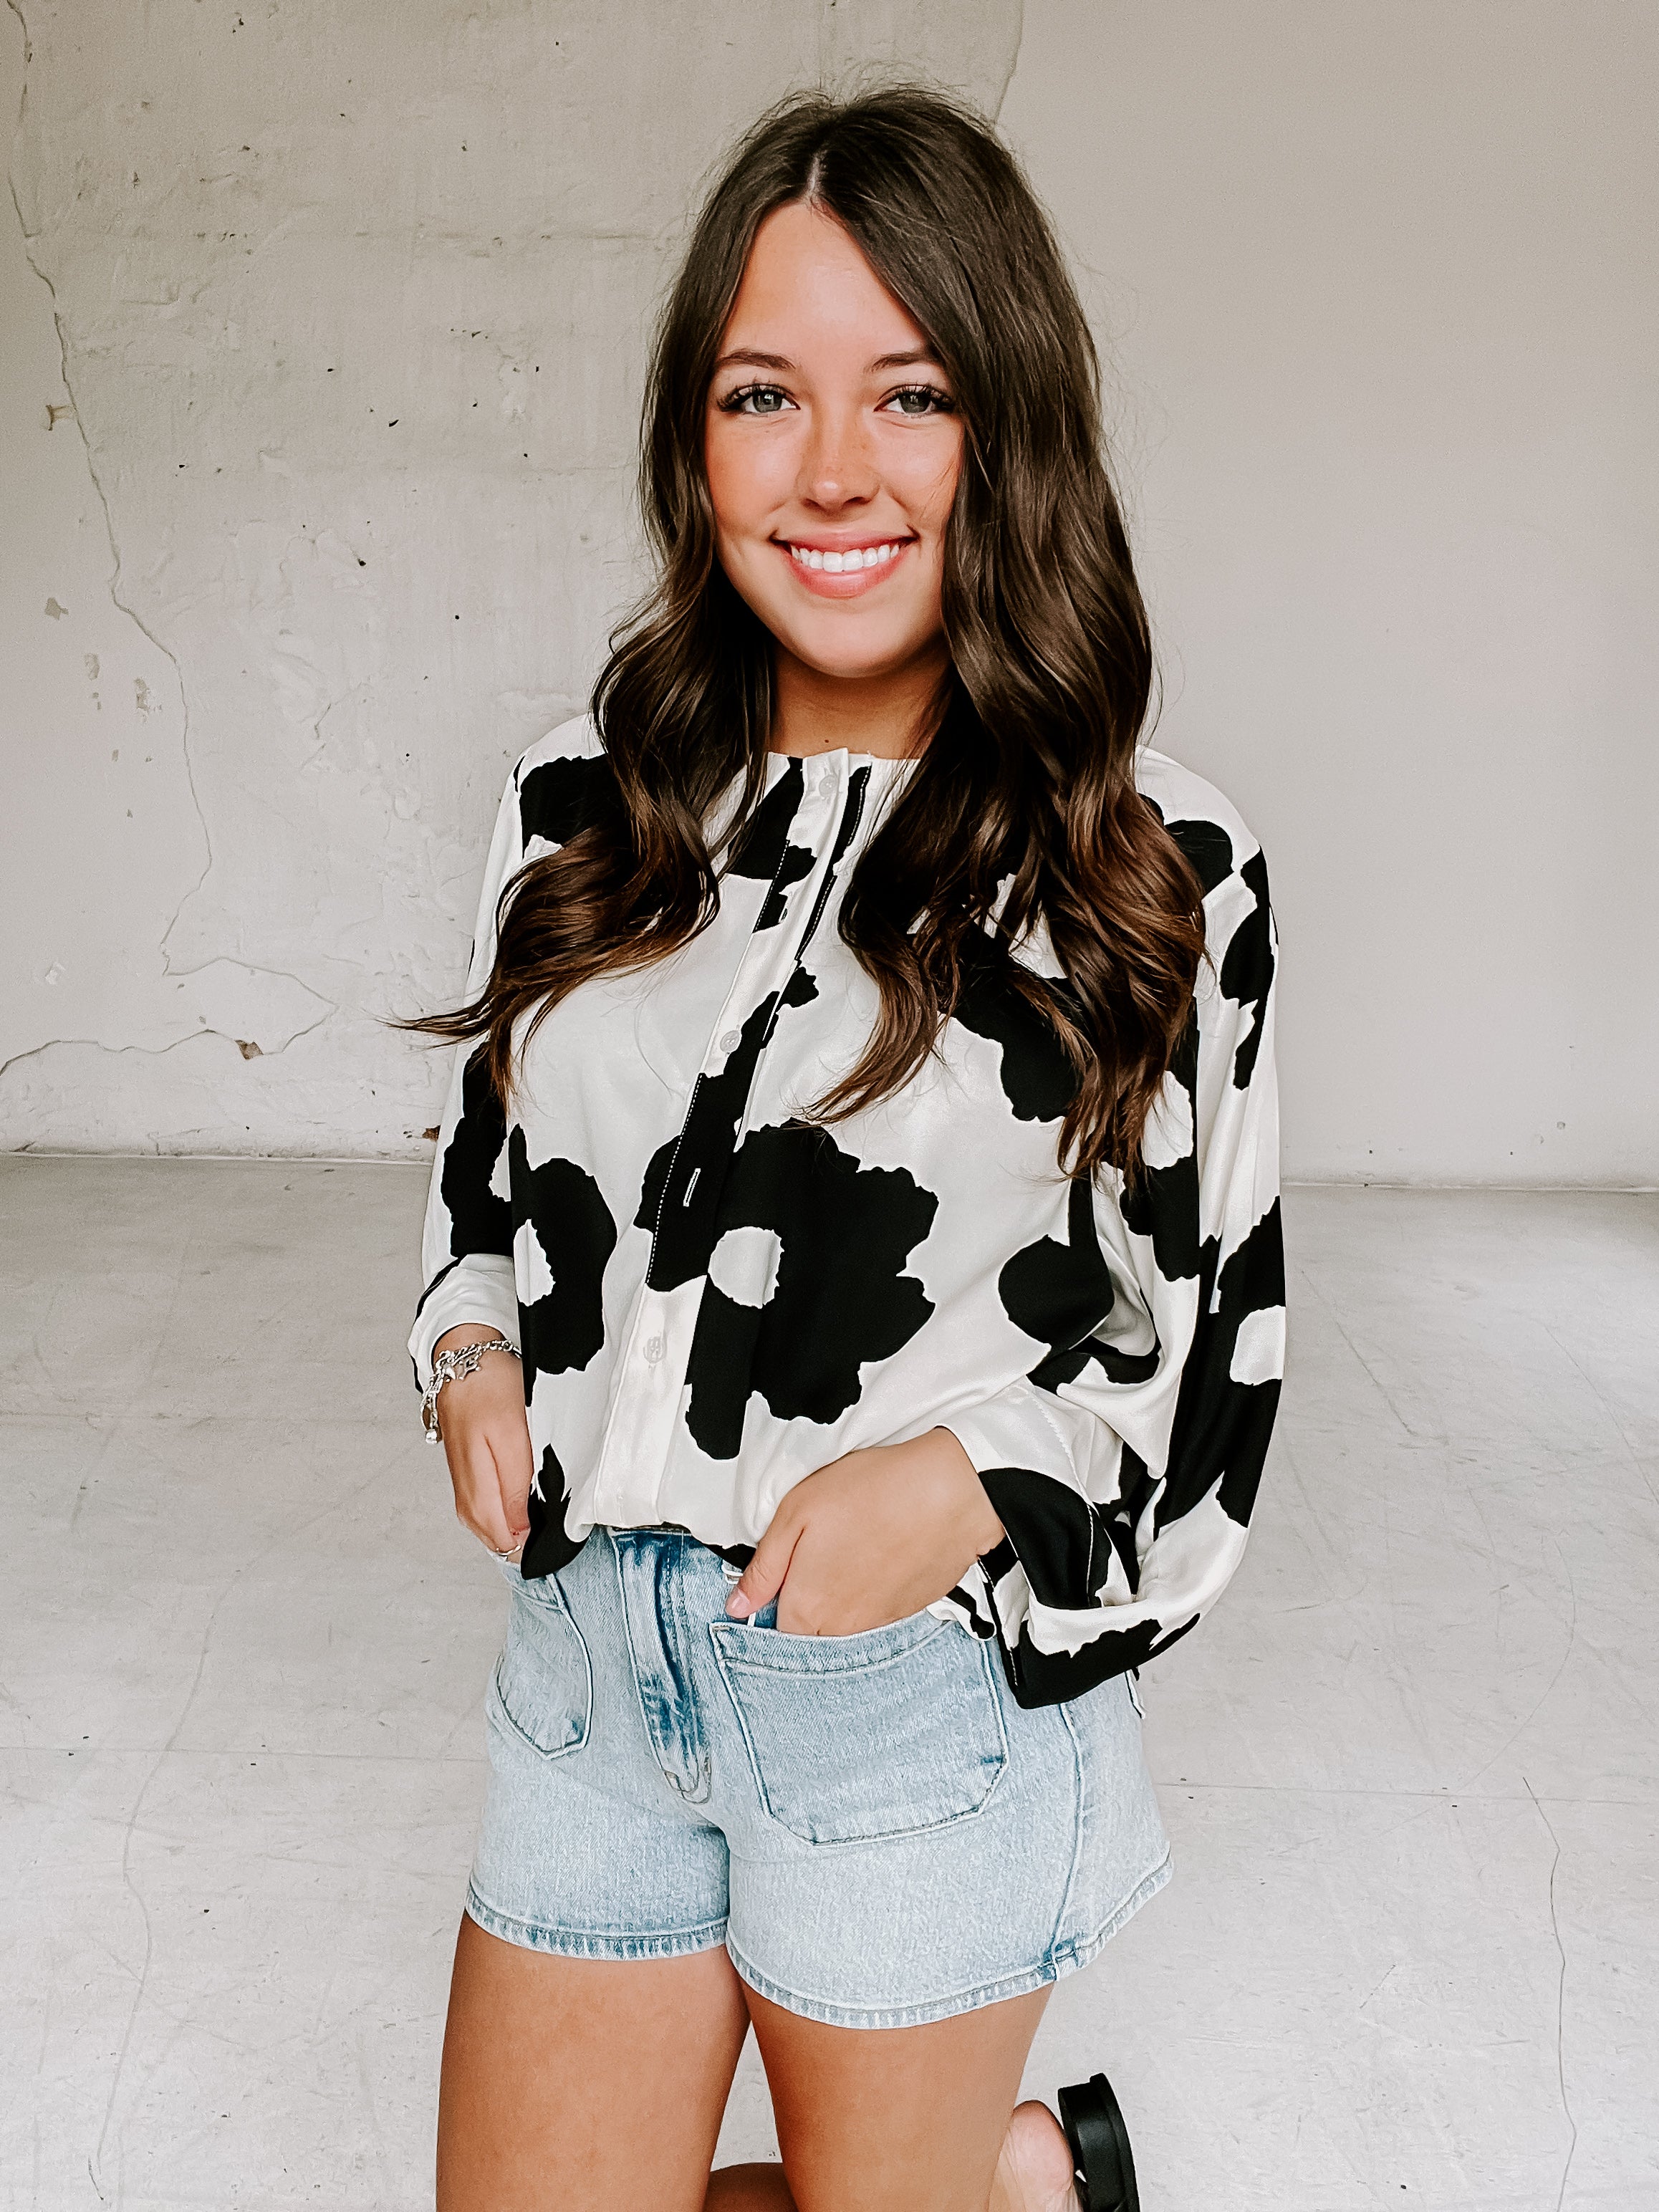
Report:
M 438 2212 L 697 2212 L 745 2033 L 723 1949 L 557 1958 L 462 1920 Z

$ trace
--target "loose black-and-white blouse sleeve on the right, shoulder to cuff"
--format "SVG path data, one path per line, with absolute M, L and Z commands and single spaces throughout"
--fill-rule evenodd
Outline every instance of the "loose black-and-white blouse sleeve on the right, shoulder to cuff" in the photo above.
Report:
M 1170 823 L 1188 845 L 1183 827 Z M 1006 1531 L 982 1571 L 1029 1705 L 1139 1666 L 1214 1604 L 1243 1557 L 1279 1405 L 1267 872 L 1259 849 L 1223 863 L 1214 832 L 1188 856 L 1206 883 L 1208 958 L 1141 1175 L 1071 1192 L 1064 1265 L 1097 1285 L 1099 1321 L 1073 1340 L 1062 1329 L 1024 1380 L 945 1422 Z M 1037 1343 L 1057 1250 L 1044 1239 L 1000 1276 L 1004 1307 Z

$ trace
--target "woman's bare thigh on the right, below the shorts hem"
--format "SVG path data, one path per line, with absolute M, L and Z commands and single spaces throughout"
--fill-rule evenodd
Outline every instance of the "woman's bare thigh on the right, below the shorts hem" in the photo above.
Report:
M 801 2212 L 984 2212 L 1046 1989 L 920 2028 L 745 1995 Z

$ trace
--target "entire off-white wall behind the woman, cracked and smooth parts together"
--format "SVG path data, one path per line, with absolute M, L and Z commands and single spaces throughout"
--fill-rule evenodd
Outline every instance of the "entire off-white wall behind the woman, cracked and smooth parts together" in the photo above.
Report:
M 378 1015 L 453 989 L 502 770 L 633 588 L 688 195 L 876 60 L 1002 102 L 1084 263 L 1161 743 L 1274 867 L 1287 1170 L 1652 1181 L 1657 42 L 1635 0 L 13 0 L 0 1144 L 420 1152 Z

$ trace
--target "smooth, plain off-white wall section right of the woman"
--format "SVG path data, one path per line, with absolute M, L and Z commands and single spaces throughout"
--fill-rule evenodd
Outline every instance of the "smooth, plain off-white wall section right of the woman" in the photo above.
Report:
M 1026 9 L 1292 1175 L 1659 1179 L 1655 113 L 1641 0 Z

